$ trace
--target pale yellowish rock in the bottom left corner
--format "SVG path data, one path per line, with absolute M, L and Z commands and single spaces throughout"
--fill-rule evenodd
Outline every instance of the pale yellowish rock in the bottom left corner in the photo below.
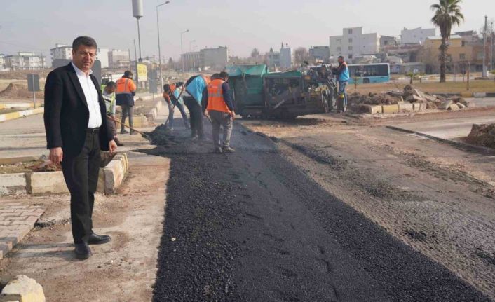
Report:
M 25 275 L 18 275 L 7 283 L 0 294 L 0 302 L 45 302 L 43 287 Z

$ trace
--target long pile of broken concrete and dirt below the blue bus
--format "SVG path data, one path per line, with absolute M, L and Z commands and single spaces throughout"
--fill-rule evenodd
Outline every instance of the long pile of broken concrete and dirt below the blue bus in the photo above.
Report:
M 406 85 L 403 91 L 369 93 L 368 95 L 361 95 L 358 92 L 354 92 L 348 95 L 348 109 L 354 112 L 365 111 L 366 109 L 363 109 L 362 105 L 380 106 L 395 104 L 425 104 L 426 109 L 451 111 L 473 107 L 472 103 L 467 102 L 462 97 L 434 95 L 416 89 L 412 85 Z

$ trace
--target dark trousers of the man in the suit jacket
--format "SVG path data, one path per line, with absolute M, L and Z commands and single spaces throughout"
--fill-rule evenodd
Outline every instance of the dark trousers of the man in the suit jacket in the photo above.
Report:
M 88 242 L 93 234 L 93 205 L 100 171 L 100 140 L 98 133 L 86 133 L 79 155 L 62 160 L 65 184 L 71 194 L 71 223 L 74 243 Z

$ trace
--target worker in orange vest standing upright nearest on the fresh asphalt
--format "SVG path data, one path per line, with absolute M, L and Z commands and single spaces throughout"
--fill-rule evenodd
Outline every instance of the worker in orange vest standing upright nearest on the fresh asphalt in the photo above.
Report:
M 222 71 L 219 78 L 212 80 L 203 91 L 203 113 L 209 114 L 213 126 L 213 144 L 217 153 L 232 153 L 230 146 L 233 119 L 233 102 L 229 83 L 229 74 Z M 224 141 L 220 142 L 220 127 L 224 128 Z

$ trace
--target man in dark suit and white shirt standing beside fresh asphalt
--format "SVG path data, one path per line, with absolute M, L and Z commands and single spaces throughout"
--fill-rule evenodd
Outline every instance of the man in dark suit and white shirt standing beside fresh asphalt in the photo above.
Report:
M 62 163 L 71 194 L 72 237 L 76 257 L 88 259 L 89 245 L 109 242 L 93 233 L 93 205 L 100 170 L 100 149 L 114 153 L 117 146 L 107 127 L 100 85 L 91 73 L 96 41 L 79 36 L 72 43 L 72 62 L 48 74 L 45 84 L 45 130 L 50 160 Z

